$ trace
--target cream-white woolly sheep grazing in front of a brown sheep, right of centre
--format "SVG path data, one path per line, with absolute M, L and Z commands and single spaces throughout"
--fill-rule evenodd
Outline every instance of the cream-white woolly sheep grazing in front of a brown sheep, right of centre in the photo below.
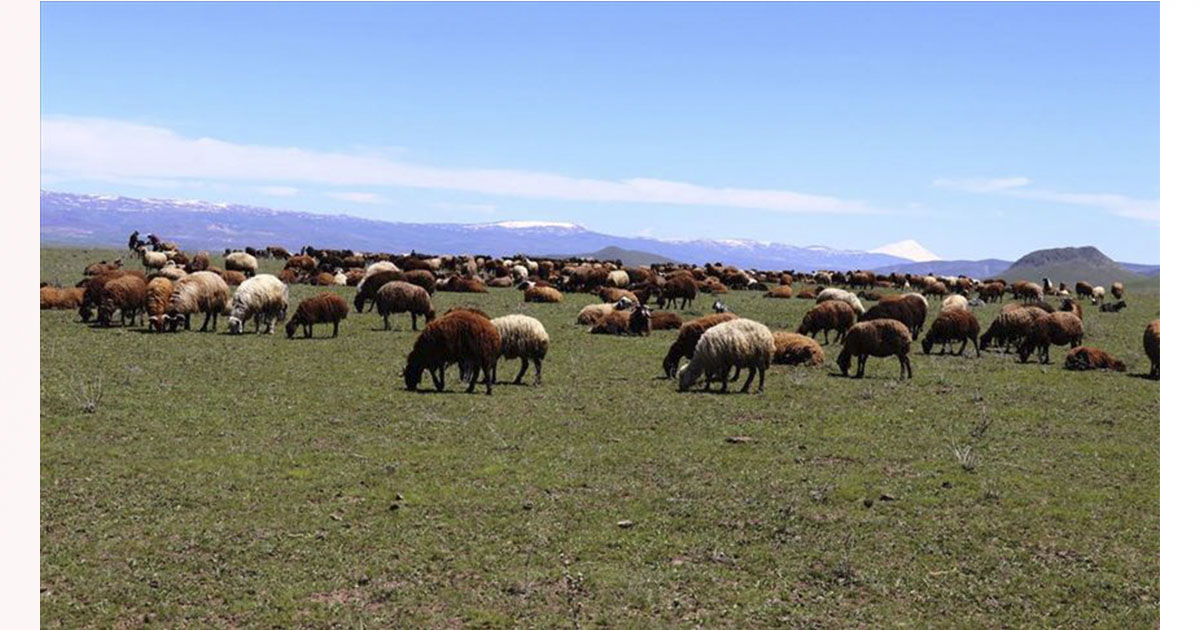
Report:
M 706 377 L 706 391 L 716 378 L 721 379 L 721 391 L 727 391 L 730 370 L 749 367 L 750 376 L 742 385 L 742 392 L 750 390 L 750 383 L 757 373 L 757 394 L 762 394 L 767 368 L 770 367 L 774 354 L 775 337 L 770 329 L 758 322 L 739 318 L 716 324 L 700 336 L 691 361 L 679 371 L 679 391 L 688 391 L 701 373 Z

